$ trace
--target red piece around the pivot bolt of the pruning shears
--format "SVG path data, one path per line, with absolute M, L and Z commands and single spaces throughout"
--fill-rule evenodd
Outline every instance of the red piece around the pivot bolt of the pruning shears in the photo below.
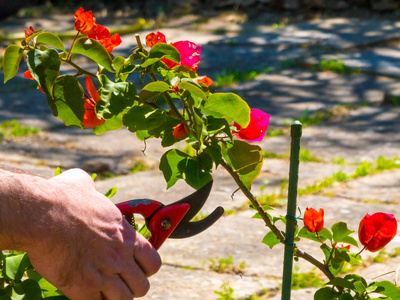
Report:
M 149 224 L 151 238 L 149 242 L 154 248 L 158 250 L 161 247 L 189 209 L 190 205 L 188 203 L 166 206 L 151 218 Z

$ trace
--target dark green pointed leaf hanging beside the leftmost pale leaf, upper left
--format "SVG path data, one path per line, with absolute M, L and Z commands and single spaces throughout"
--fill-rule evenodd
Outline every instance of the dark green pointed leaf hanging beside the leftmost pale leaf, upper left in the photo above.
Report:
M 33 49 L 27 54 L 27 64 L 32 77 L 43 91 L 53 97 L 53 84 L 56 81 L 61 61 L 55 49 L 44 51 Z

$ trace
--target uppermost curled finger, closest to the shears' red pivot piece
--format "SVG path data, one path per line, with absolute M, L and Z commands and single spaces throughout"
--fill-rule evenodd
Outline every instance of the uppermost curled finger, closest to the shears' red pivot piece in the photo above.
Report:
M 138 232 L 135 232 L 133 257 L 144 274 L 149 277 L 158 272 L 161 267 L 161 257 L 157 250 Z

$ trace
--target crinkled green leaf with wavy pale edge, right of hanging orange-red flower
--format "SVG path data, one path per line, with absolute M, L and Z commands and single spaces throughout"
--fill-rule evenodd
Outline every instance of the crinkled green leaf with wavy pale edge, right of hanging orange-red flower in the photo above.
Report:
M 133 105 L 136 86 L 131 82 L 112 82 L 105 75 L 100 75 L 100 98 L 96 104 L 98 118 L 111 119 L 127 107 Z

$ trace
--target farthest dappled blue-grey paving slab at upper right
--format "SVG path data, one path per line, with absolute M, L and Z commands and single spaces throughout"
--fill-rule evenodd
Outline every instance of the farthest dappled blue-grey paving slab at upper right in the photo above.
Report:
M 274 29 L 260 26 L 257 33 L 227 38 L 219 43 L 264 47 L 348 49 L 375 44 L 400 36 L 400 22 L 358 18 L 321 18 Z M 215 43 L 215 42 L 214 42 Z

